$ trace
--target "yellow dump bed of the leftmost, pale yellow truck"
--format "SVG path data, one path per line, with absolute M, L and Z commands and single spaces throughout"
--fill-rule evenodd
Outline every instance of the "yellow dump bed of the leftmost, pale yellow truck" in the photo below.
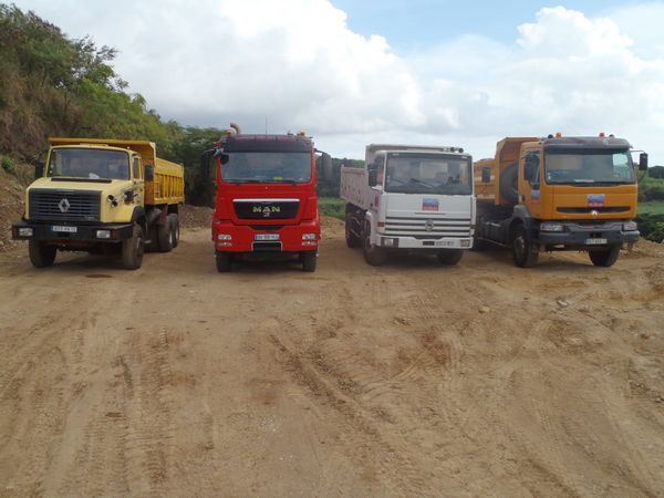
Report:
M 143 159 L 143 177 L 145 168 L 153 167 L 153 180 L 145 180 L 145 204 L 179 204 L 185 200 L 185 170 L 179 164 L 157 157 L 156 145 L 148 141 L 124 141 L 115 138 L 49 138 L 52 147 L 62 145 L 86 145 L 116 147 L 138 153 Z

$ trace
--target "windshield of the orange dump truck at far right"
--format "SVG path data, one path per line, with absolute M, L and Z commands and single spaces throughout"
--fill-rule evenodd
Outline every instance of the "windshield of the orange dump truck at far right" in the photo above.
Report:
M 633 184 L 629 151 L 549 151 L 544 156 L 547 184 Z

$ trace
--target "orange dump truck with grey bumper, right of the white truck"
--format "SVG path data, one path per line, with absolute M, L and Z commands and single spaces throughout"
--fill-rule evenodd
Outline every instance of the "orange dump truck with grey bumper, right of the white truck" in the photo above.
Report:
M 635 242 L 636 175 L 631 145 L 613 135 L 507 137 L 474 165 L 475 246 L 510 247 L 530 267 L 540 251 L 585 250 L 610 267 Z M 647 169 L 642 153 L 639 168 Z

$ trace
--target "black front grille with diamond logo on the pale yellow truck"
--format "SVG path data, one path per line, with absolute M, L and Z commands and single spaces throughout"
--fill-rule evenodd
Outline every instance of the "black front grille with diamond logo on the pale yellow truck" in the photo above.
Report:
M 98 221 L 98 191 L 30 189 L 31 220 L 44 221 Z

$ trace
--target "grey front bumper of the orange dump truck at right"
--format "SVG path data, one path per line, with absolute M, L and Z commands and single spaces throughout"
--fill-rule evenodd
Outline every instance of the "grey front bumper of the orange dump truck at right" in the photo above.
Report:
M 592 239 L 605 239 L 605 246 L 630 243 L 639 240 L 639 230 L 623 230 L 623 221 L 595 225 L 560 222 L 563 231 L 539 231 L 537 241 L 542 246 L 590 247 Z M 594 246 L 594 245 L 593 245 Z

